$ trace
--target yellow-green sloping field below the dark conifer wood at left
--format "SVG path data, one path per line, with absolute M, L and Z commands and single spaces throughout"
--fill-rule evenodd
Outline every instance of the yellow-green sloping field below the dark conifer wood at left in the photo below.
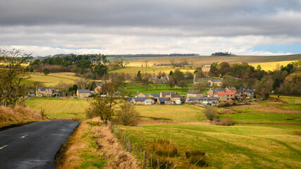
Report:
M 76 77 L 75 73 L 49 73 L 49 75 L 30 73 L 29 80 L 43 82 L 47 87 L 54 87 L 59 84 L 59 82 L 73 84 L 74 80 L 80 80 L 80 77 Z

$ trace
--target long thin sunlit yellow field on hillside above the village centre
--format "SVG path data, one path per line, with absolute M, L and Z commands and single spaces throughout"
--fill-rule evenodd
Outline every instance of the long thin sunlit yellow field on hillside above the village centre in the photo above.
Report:
M 132 75 L 137 75 L 138 71 L 140 70 L 141 74 L 151 74 L 151 75 L 156 75 L 157 73 L 166 73 L 167 75 L 172 71 L 175 71 L 175 68 L 171 67 L 166 67 L 166 66 L 152 66 L 152 67 L 125 67 L 125 68 L 116 68 L 114 70 L 109 70 L 109 73 L 128 73 Z M 195 70 L 190 70 L 190 69 L 180 69 L 182 72 L 191 72 L 193 73 Z

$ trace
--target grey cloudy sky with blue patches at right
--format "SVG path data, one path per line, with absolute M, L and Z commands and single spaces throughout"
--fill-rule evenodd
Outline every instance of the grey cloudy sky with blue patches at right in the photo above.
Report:
M 301 0 L 0 0 L 0 48 L 54 54 L 301 54 Z

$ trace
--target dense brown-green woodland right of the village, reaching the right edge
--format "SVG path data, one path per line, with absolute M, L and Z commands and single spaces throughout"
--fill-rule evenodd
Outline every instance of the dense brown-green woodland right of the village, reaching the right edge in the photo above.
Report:
M 248 63 L 213 63 L 208 73 L 210 77 L 222 77 L 222 87 L 236 89 L 255 89 L 266 97 L 271 93 L 299 95 L 301 61 L 281 65 L 274 71 L 262 70 L 260 65 L 254 68 Z

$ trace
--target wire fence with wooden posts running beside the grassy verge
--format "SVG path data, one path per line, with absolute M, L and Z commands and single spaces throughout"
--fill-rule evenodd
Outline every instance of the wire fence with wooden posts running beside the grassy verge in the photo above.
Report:
M 137 158 L 137 161 L 141 168 L 171 168 L 171 166 L 169 166 L 167 163 L 160 161 L 159 158 L 147 152 L 145 149 L 141 149 L 140 147 L 132 144 L 129 137 L 123 134 L 123 132 L 116 125 L 113 125 L 113 134 L 115 135 L 116 139 L 118 139 L 118 142 L 121 142 L 123 149 L 130 152 Z

